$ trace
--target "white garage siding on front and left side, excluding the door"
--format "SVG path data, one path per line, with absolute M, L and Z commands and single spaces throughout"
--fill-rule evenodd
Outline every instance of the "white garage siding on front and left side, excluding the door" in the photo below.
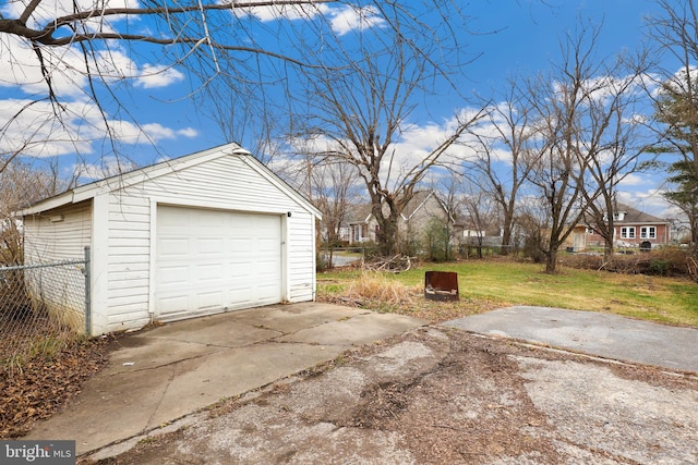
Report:
M 284 231 L 281 298 L 313 299 L 315 210 L 249 157 L 212 149 L 39 204 L 25 216 L 26 260 L 80 259 L 91 245 L 93 334 L 139 329 L 154 310 L 158 205 L 270 213 Z

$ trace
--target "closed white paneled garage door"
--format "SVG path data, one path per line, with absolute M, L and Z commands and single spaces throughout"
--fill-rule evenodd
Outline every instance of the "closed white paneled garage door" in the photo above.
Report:
M 161 321 L 281 301 L 281 217 L 158 206 Z

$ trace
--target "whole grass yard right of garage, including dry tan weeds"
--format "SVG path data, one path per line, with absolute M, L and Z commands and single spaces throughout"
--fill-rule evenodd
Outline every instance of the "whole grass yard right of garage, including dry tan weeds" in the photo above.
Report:
M 456 271 L 459 303 L 422 296 L 424 271 Z M 604 311 L 698 327 L 698 284 L 676 278 L 619 274 L 564 267 L 546 274 L 535 264 L 471 260 L 428 264 L 402 273 L 360 270 L 317 274 L 318 298 L 442 321 L 508 305 Z

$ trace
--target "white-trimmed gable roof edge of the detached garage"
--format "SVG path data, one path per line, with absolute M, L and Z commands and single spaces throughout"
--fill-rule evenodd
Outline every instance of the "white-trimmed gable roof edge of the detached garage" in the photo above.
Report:
M 89 184 L 85 184 L 79 187 L 69 189 L 62 194 L 53 197 L 40 200 L 28 208 L 21 210 L 21 216 L 36 215 L 43 211 L 51 210 L 53 208 L 63 207 L 65 205 L 77 204 L 80 201 L 94 198 L 97 195 L 108 192 L 117 191 L 123 187 L 129 187 L 135 184 L 140 184 L 146 181 L 151 181 L 158 176 L 169 174 L 172 172 L 182 171 L 186 168 L 194 167 L 200 163 L 204 163 L 214 160 L 219 157 L 238 157 L 250 168 L 260 173 L 269 183 L 274 184 L 280 191 L 285 192 L 290 197 L 296 198 L 301 205 L 303 205 L 315 217 L 322 218 L 321 211 L 315 208 L 305 197 L 303 197 L 298 191 L 288 185 L 284 180 L 274 174 L 267 167 L 252 156 L 250 151 L 241 147 L 239 144 L 230 143 L 218 147 L 213 147 L 206 150 L 197 151 L 195 154 L 185 155 L 183 157 L 174 158 L 171 160 L 161 161 L 159 163 L 151 164 L 145 168 L 129 171 L 115 176 L 106 178 L 104 180 L 95 181 Z

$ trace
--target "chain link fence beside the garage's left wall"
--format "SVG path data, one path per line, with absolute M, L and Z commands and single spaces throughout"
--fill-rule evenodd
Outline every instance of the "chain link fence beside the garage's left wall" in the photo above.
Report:
M 88 254 L 81 260 L 0 267 L 0 369 L 21 370 L 88 334 Z

